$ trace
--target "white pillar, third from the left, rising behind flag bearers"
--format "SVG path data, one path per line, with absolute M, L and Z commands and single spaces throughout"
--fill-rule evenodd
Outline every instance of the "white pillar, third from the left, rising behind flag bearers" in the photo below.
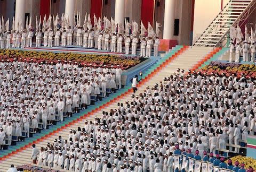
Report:
M 115 23 L 122 23 L 124 25 L 124 0 L 116 0 L 115 4 Z

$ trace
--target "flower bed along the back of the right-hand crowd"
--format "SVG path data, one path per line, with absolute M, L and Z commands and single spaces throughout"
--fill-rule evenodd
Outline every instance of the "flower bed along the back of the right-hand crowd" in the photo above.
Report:
M 226 74 L 226 76 L 235 75 L 237 78 L 245 76 L 246 79 L 256 79 L 256 65 L 239 64 L 239 63 L 220 63 L 211 62 L 209 65 L 202 67 L 199 72 L 206 73 L 207 75 Z

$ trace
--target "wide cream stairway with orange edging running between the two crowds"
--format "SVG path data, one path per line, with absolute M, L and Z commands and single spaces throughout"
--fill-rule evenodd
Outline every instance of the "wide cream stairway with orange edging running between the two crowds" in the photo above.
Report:
M 157 64 L 151 67 L 143 75 L 143 79 L 140 84 L 138 84 L 138 91 L 135 94 L 143 93 L 143 90 L 146 89 L 147 85 L 153 87 L 155 83 L 163 80 L 164 77 L 170 76 L 174 73 L 177 68 L 184 69 L 185 71 L 189 69 L 195 70 L 207 59 L 210 59 L 215 53 L 219 51 L 219 48 L 213 50 L 212 47 L 182 47 L 173 50 L 169 55 L 171 57 L 163 58 L 159 60 Z M 6 171 L 11 164 L 14 166 L 19 166 L 23 164 L 31 164 L 31 144 L 35 143 L 36 147 L 46 147 L 46 144 L 53 143 L 54 139 L 57 139 L 61 135 L 62 139 L 68 139 L 69 130 L 75 129 L 77 127 L 84 127 L 85 119 L 87 121 L 93 121 L 94 117 L 101 117 L 102 111 L 110 111 L 110 109 L 117 108 L 117 102 L 125 102 L 126 100 L 131 101 L 132 90 L 128 90 L 121 94 L 120 96 L 111 99 L 106 104 L 95 108 L 91 112 L 87 113 L 85 116 L 78 118 L 76 121 L 70 122 L 69 124 L 58 128 L 57 131 L 54 131 L 50 134 L 47 134 L 34 142 L 27 144 L 25 147 L 22 147 L 16 151 L 9 153 L 7 156 L 0 158 L 0 171 Z

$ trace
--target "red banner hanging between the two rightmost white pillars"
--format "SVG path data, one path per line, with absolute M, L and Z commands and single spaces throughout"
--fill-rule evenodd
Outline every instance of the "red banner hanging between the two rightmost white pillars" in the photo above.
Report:
M 142 0 L 140 19 L 145 25 L 146 29 L 148 28 L 148 22 L 150 22 L 151 25 L 154 25 L 154 5 L 154 0 Z

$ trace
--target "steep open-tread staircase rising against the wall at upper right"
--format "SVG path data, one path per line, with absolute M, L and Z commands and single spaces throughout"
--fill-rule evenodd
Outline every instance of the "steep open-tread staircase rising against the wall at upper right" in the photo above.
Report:
M 230 0 L 213 19 L 194 46 L 223 47 L 231 26 L 243 24 L 256 8 L 256 0 Z

